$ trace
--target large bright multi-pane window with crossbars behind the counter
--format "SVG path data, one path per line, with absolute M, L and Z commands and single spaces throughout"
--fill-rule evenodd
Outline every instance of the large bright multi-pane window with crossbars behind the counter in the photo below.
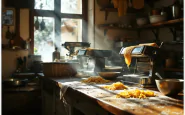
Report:
M 86 14 L 82 11 L 86 0 L 35 0 L 34 6 L 34 55 L 41 55 L 44 62 L 52 61 L 52 52 L 58 47 L 61 56 L 68 51 L 64 42 L 82 42 Z M 86 4 L 87 6 L 87 4 Z

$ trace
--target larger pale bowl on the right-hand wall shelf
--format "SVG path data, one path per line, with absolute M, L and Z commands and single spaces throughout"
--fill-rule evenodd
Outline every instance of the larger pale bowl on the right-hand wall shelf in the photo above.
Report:
M 166 15 L 152 15 L 149 17 L 150 23 L 158 23 L 166 20 Z

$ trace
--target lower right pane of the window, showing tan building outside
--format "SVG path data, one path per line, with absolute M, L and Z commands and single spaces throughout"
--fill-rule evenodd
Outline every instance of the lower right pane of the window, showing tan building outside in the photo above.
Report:
M 63 18 L 61 25 L 61 42 L 82 42 L 82 20 Z M 66 56 L 68 50 L 61 47 L 61 56 Z

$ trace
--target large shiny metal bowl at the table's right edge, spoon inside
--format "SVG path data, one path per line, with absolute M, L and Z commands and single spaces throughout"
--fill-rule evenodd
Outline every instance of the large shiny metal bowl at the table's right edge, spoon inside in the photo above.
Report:
M 164 95 L 177 95 L 183 90 L 183 79 L 156 79 L 155 82 Z

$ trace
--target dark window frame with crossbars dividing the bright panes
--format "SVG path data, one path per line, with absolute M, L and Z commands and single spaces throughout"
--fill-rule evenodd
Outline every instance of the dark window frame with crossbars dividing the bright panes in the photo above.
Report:
M 54 10 L 40 10 L 34 9 L 34 3 L 29 12 L 30 14 L 30 53 L 34 54 L 34 16 L 52 17 L 55 23 L 55 38 L 60 37 L 61 39 L 61 19 L 62 18 L 72 18 L 72 19 L 82 19 L 82 41 L 87 42 L 87 16 L 88 16 L 88 0 L 82 0 L 82 14 L 71 14 L 71 13 L 61 13 L 61 0 L 54 0 Z M 61 44 L 58 44 L 61 46 Z

